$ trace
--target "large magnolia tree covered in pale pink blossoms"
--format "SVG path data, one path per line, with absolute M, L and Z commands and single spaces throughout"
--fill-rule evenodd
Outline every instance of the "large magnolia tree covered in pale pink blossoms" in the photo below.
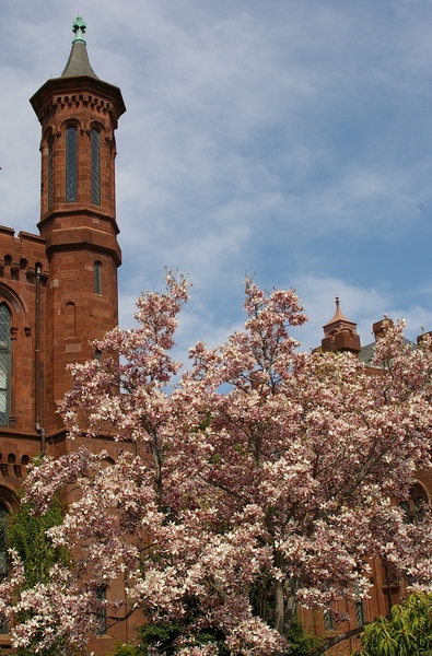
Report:
M 0 610 L 14 644 L 83 653 L 105 608 L 109 622 L 136 613 L 138 623 L 142 611 L 180 624 L 174 648 L 185 655 L 217 653 L 200 640 L 207 629 L 232 654 L 281 654 L 297 605 L 367 595 L 370 558 L 429 590 L 429 508 L 407 525 L 390 500 L 408 496 L 416 471 L 431 466 L 431 341 L 407 349 L 402 326 L 388 325 L 371 376 L 350 354 L 299 352 L 297 296 L 246 280 L 244 331 L 218 349 L 198 343 L 173 386 L 188 284 L 171 274 L 166 284 L 139 298 L 139 327 L 96 343 L 102 362 L 70 367 L 62 415 L 89 447 L 44 458 L 26 499 L 44 512 L 54 495 L 79 490 L 49 530 L 75 558 L 23 589 L 13 554 Z M 118 441 L 114 464 L 94 453 L 95 435 Z M 116 579 L 126 600 L 102 601 Z

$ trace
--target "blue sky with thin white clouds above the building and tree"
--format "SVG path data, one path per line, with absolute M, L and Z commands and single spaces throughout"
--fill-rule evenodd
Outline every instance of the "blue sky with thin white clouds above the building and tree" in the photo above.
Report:
M 432 1 L 2 0 L 0 223 L 36 232 L 28 103 L 69 56 L 77 9 L 118 84 L 121 325 L 164 267 L 192 297 L 183 359 L 240 329 L 245 273 L 295 288 L 320 343 L 335 311 L 363 344 L 387 313 L 432 329 Z

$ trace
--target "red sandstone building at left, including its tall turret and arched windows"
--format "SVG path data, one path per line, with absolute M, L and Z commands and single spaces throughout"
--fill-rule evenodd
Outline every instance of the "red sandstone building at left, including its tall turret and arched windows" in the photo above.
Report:
M 57 413 L 70 387 L 68 363 L 97 358 L 91 341 L 117 325 L 121 262 L 115 206 L 115 130 L 126 110 L 117 86 L 93 71 L 77 19 L 59 78 L 31 98 L 42 126 L 38 234 L 0 226 L 0 515 L 17 507 L 15 491 L 37 454 L 77 448 Z M 37 148 L 37 144 L 35 144 Z M 115 459 L 108 440 L 92 446 Z M 0 569 L 7 571 L 4 530 Z M 121 589 L 112 590 L 121 595 Z M 128 626 L 92 639 L 95 654 Z M 7 626 L 0 646 L 10 640 Z

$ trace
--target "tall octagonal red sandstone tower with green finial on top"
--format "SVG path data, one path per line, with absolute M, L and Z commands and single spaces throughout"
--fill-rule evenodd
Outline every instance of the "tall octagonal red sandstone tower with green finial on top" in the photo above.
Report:
M 50 435 L 62 427 L 56 410 L 70 387 L 67 364 L 94 358 L 90 342 L 118 321 L 115 130 L 126 107 L 120 90 L 93 71 L 85 28 L 78 17 L 62 74 L 31 98 L 42 125 L 38 227 L 49 278 L 39 406 Z

